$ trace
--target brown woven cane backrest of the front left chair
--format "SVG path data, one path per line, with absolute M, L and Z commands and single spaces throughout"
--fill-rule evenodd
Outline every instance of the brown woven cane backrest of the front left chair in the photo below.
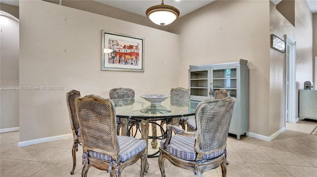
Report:
M 75 99 L 84 153 L 94 151 L 118 160 L 120 151 L 114 103 L 98 95 Z

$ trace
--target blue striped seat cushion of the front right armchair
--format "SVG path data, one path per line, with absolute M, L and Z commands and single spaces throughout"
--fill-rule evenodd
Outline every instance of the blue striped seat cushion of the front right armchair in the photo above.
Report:
M 166 139 L 162 139 L 160 146 L 164 148 Z M 195 138 L 175 134 L 172 136 L 170 143 L 167 145 L 167 152 L 185 160 L 196 160 Z M 212 159 L 223 154 L 224 149 L 220 149 L 211 154 L 203 155 L 204 160 Z

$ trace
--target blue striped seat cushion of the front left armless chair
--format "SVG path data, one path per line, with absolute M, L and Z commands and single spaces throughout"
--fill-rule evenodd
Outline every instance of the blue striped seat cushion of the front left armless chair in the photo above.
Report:
M 119 160 L 120 162 L 124 162 L 135 155 L 139 154 L 143 149 L 146 148 L 147 143 L 145 140 L 136 139 L 130 136 L 117 136 L 119 141 Z M 112 157 L 107 156 L 105 154 L 97 153 L 94 151 L 88 151 L 89 157 L 94 157 L 103 161 L 110 162 L 112 161 Z

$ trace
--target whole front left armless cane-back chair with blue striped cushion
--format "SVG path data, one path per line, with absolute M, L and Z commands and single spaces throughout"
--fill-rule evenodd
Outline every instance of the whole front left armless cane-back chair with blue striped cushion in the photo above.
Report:
M 140 177 L 146 174 L 147 143 L 130 136 L 118 136 L 115 107 L 110 99 L 87 95 L 75 99 L 83 144 L 82 177 L 90 167 L 120 177 L 121 171 L 141 159 Z

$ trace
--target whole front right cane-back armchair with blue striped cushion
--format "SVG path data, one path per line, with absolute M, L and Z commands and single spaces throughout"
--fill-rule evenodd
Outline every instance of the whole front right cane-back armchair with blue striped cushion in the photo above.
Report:
M 194 172 L 195 177 L 221 167 L 226 177 L 226 141 L 235 98 L 202 101 L 195 110 L 197 131 L 185 132 L 177 126 L 167 125 L 168 135 L 159 147 L 159 169 L 165 177 L 164 161 Z M 172 130 L 177 134 L 172 135 Z

